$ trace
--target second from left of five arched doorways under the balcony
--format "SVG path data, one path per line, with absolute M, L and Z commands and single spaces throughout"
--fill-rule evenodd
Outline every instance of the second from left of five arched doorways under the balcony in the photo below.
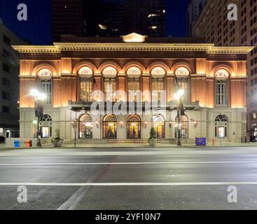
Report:
M 108 115 L 103 120 L 104 139 L 117 139 L 117 119 L 116 116 Z

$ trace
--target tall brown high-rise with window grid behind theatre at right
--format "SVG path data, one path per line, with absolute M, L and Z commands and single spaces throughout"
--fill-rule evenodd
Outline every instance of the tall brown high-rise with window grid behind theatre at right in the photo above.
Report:
M 237 20 L 228 20 L 228 4 L 237 6 Z M 257 44 L 257 1 L 208 1 L 194 28 L 195 36 L 204 36 L 208 43 L 216 45 Z M 247 79 L 247 132 L 257 130 L 257 48 L 248 55 Z

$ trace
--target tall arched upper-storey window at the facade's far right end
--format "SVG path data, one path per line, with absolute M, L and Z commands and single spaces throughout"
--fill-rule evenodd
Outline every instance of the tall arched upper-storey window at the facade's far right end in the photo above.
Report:
M 228 71 L 220 69 L 216 72 L 215 77 L 215 102 L 219 106 L 228 105 Z

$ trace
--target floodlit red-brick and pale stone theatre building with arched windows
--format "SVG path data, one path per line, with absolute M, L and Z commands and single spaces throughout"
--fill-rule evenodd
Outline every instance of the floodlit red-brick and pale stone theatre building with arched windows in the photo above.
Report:
M 102 38 L 102 43 L 69 38 L 70 42 L 51 46 L 13 46 L 21 55 L 21 138 L 35 134 L 32 88 L 48 96 L 40 123 L 44 141 L 50 141 L 56 129 L 63 139 L 74 139 L 71 123 L 76 118 L 78 137 L 94 143 L 148 139 L 151 127 L 162 142 L 174 142 L 178 127 L 187 142 L 195 137 L 241 142 L 246 136 L 246 54 L 252 48 L 216 47 L 197 39 L 172 43 L 174 39 L 139 34 L 116 43 L 108 43 L 109 38 Z M 179 125 L 176 83 L 185 90 L 186 114 Z M 139 95 L 130 94 L 138 90 Z M 135 99 L 137 109 L 128 111 Z M 149 102 L 158 104 L 149 107 Z M 104 114 L 93 113 L 91 106 L 97 110 L 97 105 L 103 106 Z M 106 111 L 108 105 L 113 111 Z M 116 115 L 115 109 L 123 106 L 125 114 Z

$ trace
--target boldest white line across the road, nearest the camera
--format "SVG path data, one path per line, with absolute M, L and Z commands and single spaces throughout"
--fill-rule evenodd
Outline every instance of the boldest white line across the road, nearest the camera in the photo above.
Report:
M 256 182 L 179 182 L 179 183 L 0 183 L 0 186 L 238 186 Z

